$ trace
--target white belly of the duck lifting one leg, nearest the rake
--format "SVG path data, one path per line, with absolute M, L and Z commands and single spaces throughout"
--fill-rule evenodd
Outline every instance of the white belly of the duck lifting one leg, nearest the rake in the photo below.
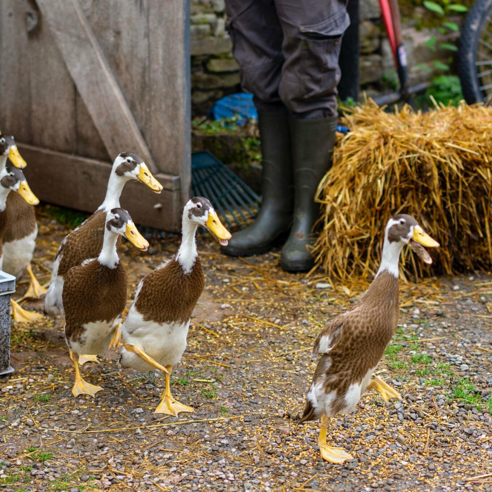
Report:
M 126 343 L 140 346 L 163 366 L 174 366 L 180 362 L 186 348 L 188 328 L 189 320 L 185 323 L 145 321 L 133 305 L 122 326 L 122 335 Z M 143 372 L 154 369 L 125 349 L 120 362 L 123 367 L 132 367 Z

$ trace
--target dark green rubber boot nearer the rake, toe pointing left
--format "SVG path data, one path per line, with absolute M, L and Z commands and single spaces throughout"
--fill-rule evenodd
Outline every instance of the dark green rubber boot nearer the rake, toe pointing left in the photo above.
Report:
M 266 253 L 287 239 L 294 210 L 294 185 L 287 110 L 258 111 L 263 155 L 261 210 L 250 226 L 221 247 L 229 256 Z

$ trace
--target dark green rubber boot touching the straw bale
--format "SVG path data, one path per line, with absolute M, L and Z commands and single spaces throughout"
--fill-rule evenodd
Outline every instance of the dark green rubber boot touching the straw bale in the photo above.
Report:
M 316 234 L 312 228 L 319 216 L 314 194 L 332 165 L 337 117 L 319 120 L 289 118 L 294 168 L 294 223 L 282 248 L 280 265 L 286 272 L 307 272 L 314 259 L 307 246 Z

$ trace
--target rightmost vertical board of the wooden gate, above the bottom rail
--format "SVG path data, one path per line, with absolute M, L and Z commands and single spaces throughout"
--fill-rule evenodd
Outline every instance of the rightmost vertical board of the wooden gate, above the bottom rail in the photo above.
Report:
M 191 186 L 190 2 L 149 1 L 152 111 L 145 135 L 159 168 L 181 176 L 184 203 Z

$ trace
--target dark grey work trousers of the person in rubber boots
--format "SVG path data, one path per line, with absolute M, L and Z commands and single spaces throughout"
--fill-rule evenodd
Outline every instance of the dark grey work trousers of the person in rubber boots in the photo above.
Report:
M 226 0 L 243 90 L 259 110 L 299 118 L 337 114 L 338 55 L 350 24 L 345 0 Z M 282 104 L 283 103 L 283 104 Z

